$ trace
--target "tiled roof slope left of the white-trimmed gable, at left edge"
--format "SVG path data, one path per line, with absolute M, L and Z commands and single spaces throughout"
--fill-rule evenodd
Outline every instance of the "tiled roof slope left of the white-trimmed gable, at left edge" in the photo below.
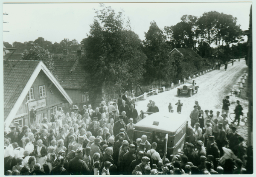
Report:
M 4 120 L 40 61 L 3 60 Z

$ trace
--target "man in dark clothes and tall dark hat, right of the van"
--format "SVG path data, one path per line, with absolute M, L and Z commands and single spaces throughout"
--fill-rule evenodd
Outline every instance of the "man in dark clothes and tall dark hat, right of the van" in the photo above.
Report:
M 217 143 L 215 143 L 214 136 L 208 136 L 208 143 L 207 143 L 207 156 L 212 155 L 214 157 L 212 163 L 214 166 L 214 170 L 217 169 L 218 161 L 216 158 L 220 157 L 220 151 L 218 150 Z

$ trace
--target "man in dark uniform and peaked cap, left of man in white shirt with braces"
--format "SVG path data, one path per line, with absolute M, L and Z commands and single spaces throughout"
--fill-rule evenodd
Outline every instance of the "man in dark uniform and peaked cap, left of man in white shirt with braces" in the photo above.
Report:
M 135 145 L 130 144 L 129 152 L 122 157 L 122 163 L 121 163 L 122 174 L 131 174 L 132 171 L 130 169 L 130 165 L 131 165 L 131 162 L 136 159 L 136 155 L 134 155 L 134 153 L 135 153 Z

